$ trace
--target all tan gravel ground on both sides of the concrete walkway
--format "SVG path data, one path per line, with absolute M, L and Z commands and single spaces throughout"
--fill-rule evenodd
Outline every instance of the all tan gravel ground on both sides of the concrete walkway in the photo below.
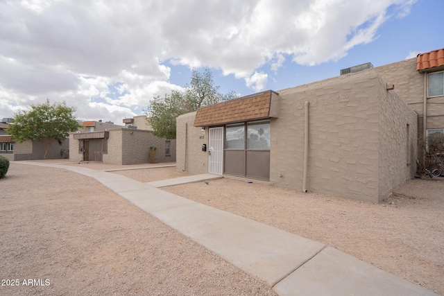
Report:
M 142 167 L 113 173 L 140 182 L 184 175 Z M 442 180 L 410 180 L 382 204 L 225 178 L 164 190 L 336 247 L 444 295 Z M 0 286 L 0 295 L 274 295 L 83 175 L 12 163 L 0 205 L 0 276 L 20 284 Z

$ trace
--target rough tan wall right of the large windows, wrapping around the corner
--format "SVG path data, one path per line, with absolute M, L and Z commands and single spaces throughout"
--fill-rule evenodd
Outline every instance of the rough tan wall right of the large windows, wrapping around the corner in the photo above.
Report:
M 402 145 L 406 148 L 406 143 L 402 144 L 407 125 L 404 119 L 407 116 L 414 125 L 414 112 L 395 94 L 390 95 L 395 103 L 383 103 L 386 83 L 377 71 L 369 69 L 278 93 L 280 116 L 271 120 L 272 182 L 302 190 L 306 101 L 309 102 L 309 191 L 379 202 L 393 186 L 405 182 L 407 156 L 398 155 L 387 146 L 393 145 L 388 139 L 395 139 L 399 141 L 398 148 Z M 396 111 L 393 122 L 388 126 L 381 123 L 390 114 L 380 112 L 398 105 L 403 107 Z M 410 130 L 410 134 L 415 132 L 414 128 Z M 387 159 L 393 168 L 403 166 L 403 169 L 382 172 Z M 393 175 L 382 182 L 381 173 L 384 177 Z

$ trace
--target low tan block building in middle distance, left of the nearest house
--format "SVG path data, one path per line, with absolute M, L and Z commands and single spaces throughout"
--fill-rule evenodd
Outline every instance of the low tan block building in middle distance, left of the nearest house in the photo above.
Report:
M 92 127 L 92 121 L 85 121 Z M 146 116 L 123 119 L 121 125 L 95 123 L 94 131 L 69 135 L 69 159 L 74 162 L 103 162 L 106 164 L 146 164 L 176 162 L 176 140 L 153 136 Z M 99 127 L 103 128 L 99 130 Z M 149 157 L 155 147 L 155 160 Z

